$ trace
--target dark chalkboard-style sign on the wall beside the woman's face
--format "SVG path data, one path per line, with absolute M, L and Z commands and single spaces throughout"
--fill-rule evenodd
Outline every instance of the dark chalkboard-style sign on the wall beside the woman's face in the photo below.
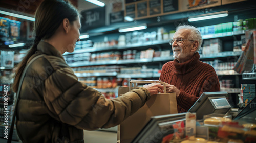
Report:
M 82 32 L 86 32 L 89 29 L 98 28 L 106 25 L 105 22 L 105 7 L 99 7 L 90 10 L 84 10 L 81 12 L 81 25 Z

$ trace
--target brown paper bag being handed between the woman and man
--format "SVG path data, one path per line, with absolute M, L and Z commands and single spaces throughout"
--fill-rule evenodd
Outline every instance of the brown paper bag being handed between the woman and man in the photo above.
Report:
M 159 81 L 130 81 L 130 87 L 119 87 L 118 96 L 133 89 L 131 87 L 132 83 L 153 83 Z M 165 85 L 164 85 L 165 87 Z M 136 88 L 136 86 L 134 87 Z M 137 112 L 128 117 L 120 125 L 118 125 L 117 131 L 117 142 L 120 143 L 130 143 L 140 132 L 140 130 L 145 126 L 145 124 L 150 120 L 152 116 L 166 115 L 166 114 L 176 114 L 177 113 L 177 102 L 175 93 L 165 93 L 156 94 L 151 96 L 143 107 L 141 107 Z

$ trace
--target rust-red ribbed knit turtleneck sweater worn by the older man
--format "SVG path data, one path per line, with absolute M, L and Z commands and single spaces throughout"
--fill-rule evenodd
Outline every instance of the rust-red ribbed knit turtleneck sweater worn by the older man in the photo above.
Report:
M 199 61 L 199 53 L 179 63 L 177 59 L 162 67 L 159 80 L 180 90 L 177 98 L 178 113 L 187 112 L 203 92 L 220 91 L 218 76 L 211 65 Z

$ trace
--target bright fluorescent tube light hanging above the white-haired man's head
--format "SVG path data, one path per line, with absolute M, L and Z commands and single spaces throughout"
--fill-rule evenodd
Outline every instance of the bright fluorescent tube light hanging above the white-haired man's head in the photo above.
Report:
M 221 11 L 221 12 L 214 12 L 214 13 L 207 13 L 202 15 L 196 15 L 189 17 L 189 22 L 200 21 L 200 20 L 207 20 L 207 19 L 214 19 L 220 17 L 228 16 L 228 11 Z

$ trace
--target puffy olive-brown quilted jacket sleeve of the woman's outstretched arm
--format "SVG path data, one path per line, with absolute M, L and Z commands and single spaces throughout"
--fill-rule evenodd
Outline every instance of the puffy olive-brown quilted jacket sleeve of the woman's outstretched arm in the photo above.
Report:
M 45 80 L 43 93 L 49 114 L 79 129 L 94 130 L 118 125 L 150 97 L 148 90 L 140 88 L 113 100 L 106 99 L 97 90 L 79 82 L 65 63 L 49 62 L 54 70 Z

